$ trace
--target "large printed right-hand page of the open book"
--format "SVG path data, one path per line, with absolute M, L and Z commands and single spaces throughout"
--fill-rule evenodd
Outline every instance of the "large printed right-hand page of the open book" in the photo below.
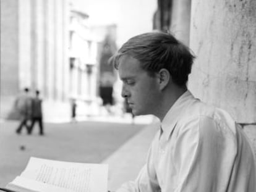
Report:
M 108 165 L 31 157 L 20 177 L 74 192 L 105 192 L 107 191 Z

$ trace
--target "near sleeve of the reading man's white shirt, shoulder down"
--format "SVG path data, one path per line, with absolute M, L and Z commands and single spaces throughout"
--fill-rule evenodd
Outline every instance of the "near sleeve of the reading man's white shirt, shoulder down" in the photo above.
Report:
M 234 133 L 210 117 L 182 125 L 173 159 L 177 170 L 175 192 L 226 191 L 236 157 Z

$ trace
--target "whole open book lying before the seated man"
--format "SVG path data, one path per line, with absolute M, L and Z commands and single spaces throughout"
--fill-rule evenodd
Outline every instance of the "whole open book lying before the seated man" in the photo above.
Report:
M 26 169 L 6 188 L 19 192 L 107 192 L 108 165 L 30 157 Z

